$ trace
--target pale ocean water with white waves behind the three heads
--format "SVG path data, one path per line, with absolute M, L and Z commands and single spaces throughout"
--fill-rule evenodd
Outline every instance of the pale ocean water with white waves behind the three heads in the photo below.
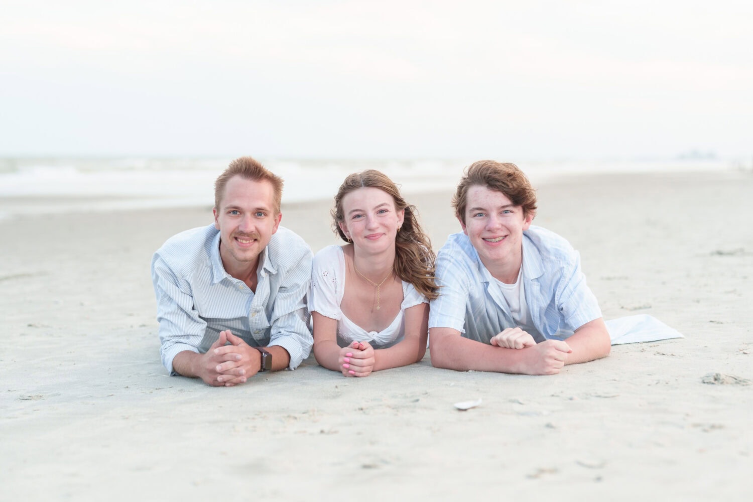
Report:
M 230 158 L 0 158 L 0 218 L 15 214 L 115 211 L 206 205 L 215 178 Z M 279 160 L 259 159 L 285 180 L 283 203 L 332 199 L 351 172 L 379 169 L 405 194 L 452 190 L 474 159 Z M 717 159 L 520 162 L 538 184 L 551 178 L 599 172 L 739 169 Z

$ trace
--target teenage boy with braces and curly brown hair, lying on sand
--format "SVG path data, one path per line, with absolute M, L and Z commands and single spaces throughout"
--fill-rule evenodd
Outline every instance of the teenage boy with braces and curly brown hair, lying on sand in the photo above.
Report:
M 437 254 L 431 364 L 550 375 L 609 354 L 580 256 L 562 237 L 531 225 L 535 190 L 517 166 L 472 164 L 453 207 L 463 231 Z

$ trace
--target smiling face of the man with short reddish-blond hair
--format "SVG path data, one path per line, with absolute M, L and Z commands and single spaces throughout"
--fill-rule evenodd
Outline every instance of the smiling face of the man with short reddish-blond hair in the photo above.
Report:
M 282 213 L 275 213 L 274 197 L 269 181 L 240 176 L 227 181 L 219 207 L 213 212 L 215 228 L 221 234 L 222 264 L 233 277 L 236 277 L 233 272 L 256 269 L 259 254 L 277 231 Z

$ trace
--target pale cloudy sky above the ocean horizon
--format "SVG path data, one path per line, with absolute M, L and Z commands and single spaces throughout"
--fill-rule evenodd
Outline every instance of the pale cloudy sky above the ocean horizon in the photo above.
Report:
M 2 3 L 0 156 L 753 157 L 753 2 Z

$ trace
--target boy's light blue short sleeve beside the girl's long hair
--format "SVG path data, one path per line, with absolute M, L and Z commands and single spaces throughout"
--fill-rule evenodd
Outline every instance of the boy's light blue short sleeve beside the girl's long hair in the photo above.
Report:
M 429 304 L 428 327 L 450 327 L 465 333 L 469 275 L 448 253 L 440 253 L 435 266 L 434 276 L 439 286 L 439 297 Z

